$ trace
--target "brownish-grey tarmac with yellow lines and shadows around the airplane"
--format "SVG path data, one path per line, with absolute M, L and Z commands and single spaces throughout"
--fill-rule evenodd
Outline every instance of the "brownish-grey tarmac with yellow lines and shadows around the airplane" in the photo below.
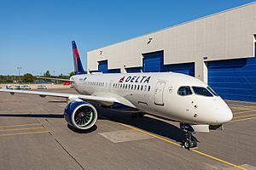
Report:
M 227 100 L 234 118 L 224 131 L 196 133 L 198 148 L 186 150 L 178 123 L 154 116 L 96 108 L 96 126 L 78 132 L 64 102 L 0 93 L 0 169 L 256 169 L 256 103 Z

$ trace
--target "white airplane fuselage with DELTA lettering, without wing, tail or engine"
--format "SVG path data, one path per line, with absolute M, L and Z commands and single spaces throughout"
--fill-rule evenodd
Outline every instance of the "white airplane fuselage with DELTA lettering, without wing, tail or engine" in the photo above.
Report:
M 87 74 L 71 77 L 80 94 L 118 98 L 139 111 L 191 124 L 223 124 L 233 115 L 223 99 L 196 94 L 193 87 L 207 88 L 195 77 L 166 73 Z M 181 87 L 192 94 L 180 95 Z M 124 104 L 123 103 L 123 104 Z

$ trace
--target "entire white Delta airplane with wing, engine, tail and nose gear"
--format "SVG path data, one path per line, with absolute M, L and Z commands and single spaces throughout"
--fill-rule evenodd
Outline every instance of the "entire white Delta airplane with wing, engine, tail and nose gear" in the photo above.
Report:
M 183 141 L 186 149 L 197 146 L 193 133 L 222 129 L 223 124 L 233 118 L 224 99 L 195 77 L 174 72 L 85 74 L 74 41 L 72 47 L 76 75 L 68 81 L 79 94 L 13 89 L 0 89 L 0 92 L 65 98 L 65 120 L 79 130 L 96 124 L 98 113 L 95 105 L 131 111 L 132 116 L 137 116 L 138 112 L 164 117 L 180 122 L 186 135 Z

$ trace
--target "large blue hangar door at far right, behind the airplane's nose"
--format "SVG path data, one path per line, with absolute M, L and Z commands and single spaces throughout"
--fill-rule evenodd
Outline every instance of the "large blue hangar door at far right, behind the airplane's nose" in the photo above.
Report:
M 256 59 L 211 61 L 208 84 L 224 99 L 256 102 Z

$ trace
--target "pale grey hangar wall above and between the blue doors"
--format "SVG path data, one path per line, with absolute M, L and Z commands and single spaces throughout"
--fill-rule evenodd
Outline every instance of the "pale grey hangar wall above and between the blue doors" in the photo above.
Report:
M 232 8 L 142 37 L 98 48 L 87 54 L 87 69 L 108 59 L 108 69 L 121 72 L 143 67 L 143 54 L 164 51 L 164 65 L 195 63 L 195 77 L 207 82 L 208 61 L 254 56 L 256 3 Z

